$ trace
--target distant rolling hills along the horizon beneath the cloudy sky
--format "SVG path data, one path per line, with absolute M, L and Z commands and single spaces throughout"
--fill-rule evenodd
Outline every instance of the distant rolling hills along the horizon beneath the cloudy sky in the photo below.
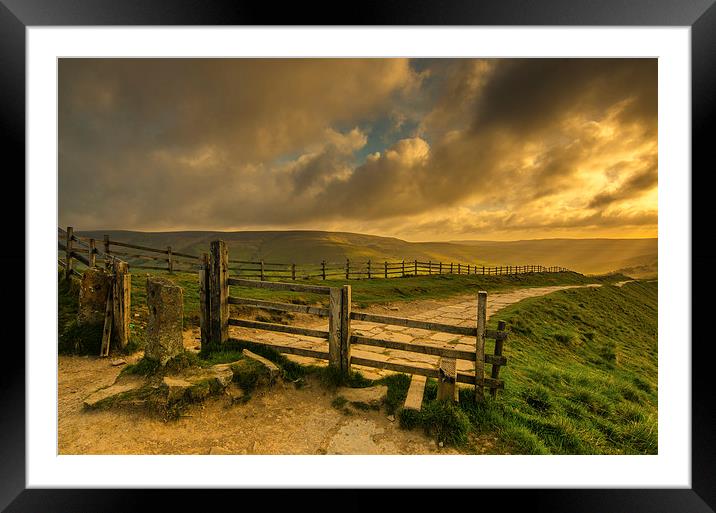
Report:
M 585 274 L 631 270 L 638 277 L 656 275 L 657 239 L 540 239 L 521 241 L 407 242 L 347 232 L 241 231 L 137 232 L 79 231 L 79 235 L 200 255 L 212 240 L 223 239 L 237 260 L 265 260 L 296 264 L 371 259 L 432 260 L 472 265 L 563 266 Z

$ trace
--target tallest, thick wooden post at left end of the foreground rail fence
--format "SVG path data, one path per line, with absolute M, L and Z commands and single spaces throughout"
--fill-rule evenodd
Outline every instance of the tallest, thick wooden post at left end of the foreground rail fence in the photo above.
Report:
M 210 267 L 210 347 L 216 349 L 229 338 L 229 252 L 223 240 L 211 242 Z

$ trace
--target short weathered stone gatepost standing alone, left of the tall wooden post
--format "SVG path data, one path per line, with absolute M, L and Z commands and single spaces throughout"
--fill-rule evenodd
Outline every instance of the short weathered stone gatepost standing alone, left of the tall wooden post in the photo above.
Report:
M 184 293 L 166 278 L 147 277 L 147 347 L 144 356 L 165 365 L 184 351 Z

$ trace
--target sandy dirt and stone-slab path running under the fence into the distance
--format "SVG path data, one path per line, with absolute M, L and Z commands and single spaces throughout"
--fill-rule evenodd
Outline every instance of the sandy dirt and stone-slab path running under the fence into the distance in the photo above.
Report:
M 589 285 L 599 286 L 599 285 Z M 521 289 L 491 294 L 488 316 L 526 298 L 573 288 L 556 286 Z M 464 296 L 443 301 L 416 301 L 376 306 L 368 311 L 388 315 L 432 320 L 448 324 L 472 325 L 476 319 L 476 300 Z M 323 321 L 325 323 L 325 321 Z M 353 324 L 364 335 L 399 341 L 474 350 L 474 340 L 399 326 L 371 323 Z M 233 331 L 233 328 L 232 328 Z M 321 347 L 325 341 L 257 330 L 236 330 L 257 340 L 291 343 L 302 347 Z M 196 345 L 198 332 L 185 333 L 185 346 Z M 419 366 L 434 366 L 435 357 L 353 346 L 353 354 L 387 359 Z M 135 361 L 141 354 L 127 358 Z M 306 363 L 310 359 L 296 357 Z M 461 362 L 469 365 L 469 362 Z M 82 401 L 94 390 L 111 384 L 121 367 L 107 359 L 60 356 L 58 366 L 58 451 L 60 454 L 455 454 L 439 447 L 422 431 L 405 431 L 384 411 L 356 411 L 346 415 L 331 406 L 336 393 L 317 383 L 295 389 L 279 384 L 257 392 L 244 404 L 231 404 L 228 397 L 211 398 L 192 406 L 188 416 L 163 422 L 142 413 L 127 411 L 87 412 Z M 361 368 L 368 377 L 384 371 Z M 461 370 L 470 371 L 469 368 Z M 489 452 L 495 439 L 484 437 L 476 444 Z

